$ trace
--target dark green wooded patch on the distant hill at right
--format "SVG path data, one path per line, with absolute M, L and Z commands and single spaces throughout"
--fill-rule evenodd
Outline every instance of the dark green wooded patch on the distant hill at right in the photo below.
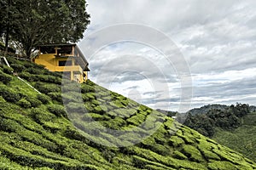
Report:
M 241 117 L 251 113 L 251 108 L 246 104 L 236 105 L 206 105 L 188 112 L 185 126 L 212 137 L 216 127 L 231 130 L 241 125 Z

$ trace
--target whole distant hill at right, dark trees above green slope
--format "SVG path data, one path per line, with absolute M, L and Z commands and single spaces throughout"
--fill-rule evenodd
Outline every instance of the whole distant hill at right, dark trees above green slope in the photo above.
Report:
M 207 105 L 189 111 L 183 124 L 256 161 L 255 106 Z

